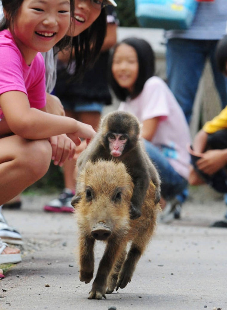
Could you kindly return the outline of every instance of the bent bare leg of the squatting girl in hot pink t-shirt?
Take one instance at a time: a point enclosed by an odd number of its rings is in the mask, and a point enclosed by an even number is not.
[[[51,155],[47,139],[26,140],[17,135],[0,139],[0,205],[45,175]]]

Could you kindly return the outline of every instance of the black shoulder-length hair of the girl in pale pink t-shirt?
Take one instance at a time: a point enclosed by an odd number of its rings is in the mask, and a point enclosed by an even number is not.
[[[114,53],[116,51],[116,48],[122,43],[133,47],[138,57],[139,73],[134,85],[134,89],[131,93],[129,93],[129,91],[126,88],[121,87],[116,82],[112,73]],[[147,41],[139,38],[127,38],[122,40],[121,42],[117,43],[113,48],[113,52],[111,53],[109,58],[108,72],[109,72],[110,86],[112,87],[115,95],[119,100],[125,101],[128,96],[130,96],[131,99],[136,98],[139,95],[139,93],[143,90],[143,86],[147,81],[147,79],[152,77],[155,72],[155,55],[152,50],[152,47]]]

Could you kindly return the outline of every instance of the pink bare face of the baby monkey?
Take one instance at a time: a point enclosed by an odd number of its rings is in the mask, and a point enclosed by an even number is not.
[[[107,139],[109,142],[110,155],[112,155],[113,157],[120,157],[127,143],[127,136],[124,134],[109,132],[107,135]]]

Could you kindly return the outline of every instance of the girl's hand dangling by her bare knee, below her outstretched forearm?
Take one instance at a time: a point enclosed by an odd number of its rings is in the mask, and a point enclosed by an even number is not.
[[[52,147],[54,165],[61,167],[67,158],[73,159],[76,145],[66,134],[50,137],[49,142]]]

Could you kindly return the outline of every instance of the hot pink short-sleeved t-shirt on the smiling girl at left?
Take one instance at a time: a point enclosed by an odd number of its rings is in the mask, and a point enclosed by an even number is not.
[[[0,64],[0,95],[6,91],[22,91],[28,96],[32,108],[45,107],[45,65],[40,53],[28,66],[12,34],[3,30],[0,31]],[[0,120],[2,117],[0,107]]]

